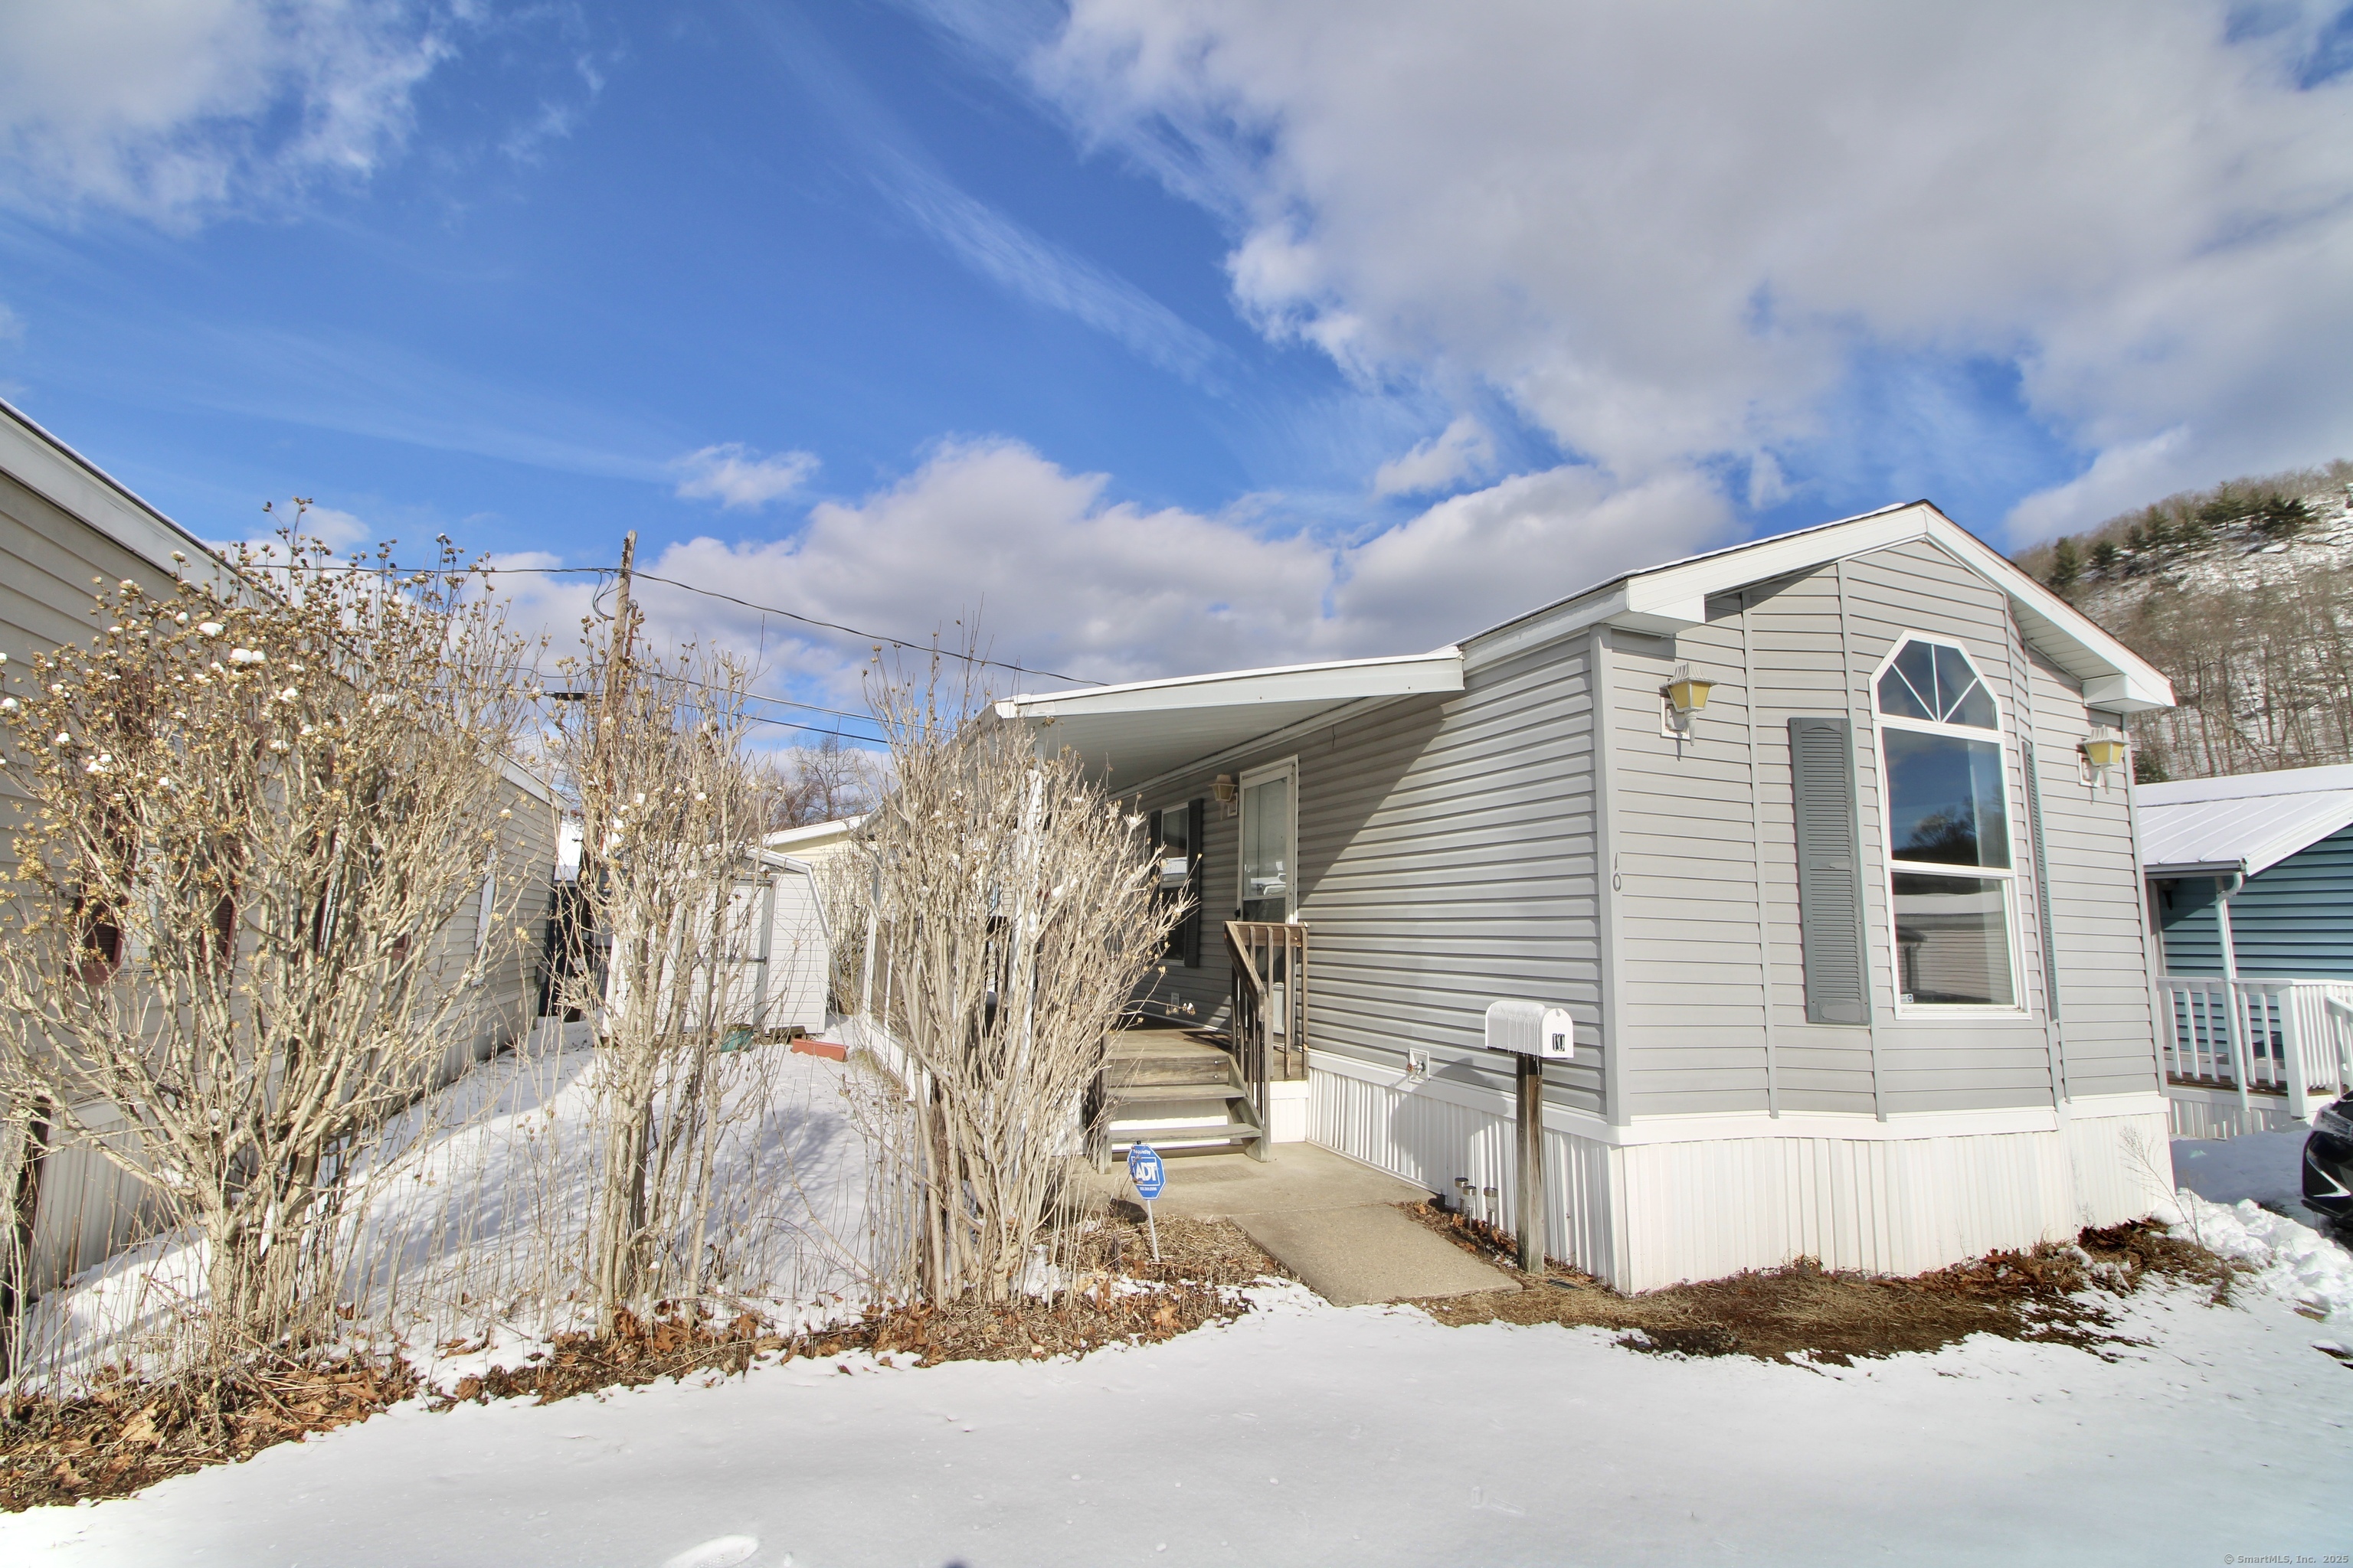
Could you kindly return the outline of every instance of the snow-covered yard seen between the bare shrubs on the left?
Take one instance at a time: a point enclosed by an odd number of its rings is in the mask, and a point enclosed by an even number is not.
[[[574,1255],[598,1173],[595,1051],[501,1056],[398,1117],[355,1175],[365,1211],[344,1298],[358,1340],[388,1331],[438,1385],[520,1363],[586,1326]],[[767,1046],[720,1058],[732,1114],[715,1152],[706,1284],[800,1328],[854,1312],[868,1274],[866,1143],[838,1063]],[[207,1246],[165,1232],[45,1295],[33,1382],[158,1363],[202,1309]],[[442,1345],[480,1345],[459,1356]]]

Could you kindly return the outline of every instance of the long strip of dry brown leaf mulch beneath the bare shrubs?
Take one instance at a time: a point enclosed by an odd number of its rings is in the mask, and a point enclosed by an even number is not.
[[[1132,1208],[1132,1206],[1127,1206]],[[1249,1302],[1231,1288],[1280,1274],[1273,1258],[1224,1220],[1162,1220],[1153,1262],[1144,1211],[1120,1206],[1080,1246],[1078,1288],[1052,1300],[955,1300],[871,1309],[854,1324],[776,1335],[751,1312],[720,1324],[656,1302],[652,1319],[621,1314],[609,1335],[558,1335],[525,1366],[461,1378],[435,1410],[492,1399],[553,1403],[638,1387],[656,1378],[744,1373],[753,1361],[906,1354],[941,1361],[1031,1361],[1106,1345],[1148,1345],[1224,1324]],[[1120,1291],[1115,1281],[1146,1284]],[[445,1345],[466,1354],[480,1345]],[[847,1368],[845,1368],[847,1371]],[[202,1465],[249,1460],[261,1448],[365,1420],[421,1392],[400,1356],[249,1363],[224,1378],[139,1382],[111,1378],[78,1399],[21,1399],[0,1408],[0,1512],[125,1497]]]

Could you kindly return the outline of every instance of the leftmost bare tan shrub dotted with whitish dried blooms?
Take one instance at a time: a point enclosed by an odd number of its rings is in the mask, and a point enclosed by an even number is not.
[[[529,806],[480,576],[287,548],[285,595],[242,604],[101,585],[99,632],[0,712],[0,1091],[202,1234],[214,1356],[327,1321],[344,1171],[485,1004],[508,947],[452,922],[496,931],[499,820]]]

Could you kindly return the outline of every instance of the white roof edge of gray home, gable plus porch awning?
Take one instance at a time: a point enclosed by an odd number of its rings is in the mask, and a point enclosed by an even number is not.
[[[1176,771],[1214,766],[1273,745],[1292,731],[1329,724],[1344,712],[1431,691],[1461,691],[1468,670],[1558,642],[1588,625],[1673,635],[1706,623],[1708,599],[1715,595],[1911,541],[1939,545],[1958,564],[2000,588],[2009,597],[2019,632],[2082,682],[2087,705],[2108,712],[2174,705],[2174,686],[2155,665],[1934,505],[1911,501],[1626,571],[1431,654],[1021,693],[995,703],[991,717],[1040,729],[1052,724],[1054,743],[1078,750],[1096,771],[1118,757],[1122,790],[1151,790]]]

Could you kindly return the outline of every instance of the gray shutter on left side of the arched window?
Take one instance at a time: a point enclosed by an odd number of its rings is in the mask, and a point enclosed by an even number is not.
[[[1805,1016],[1807,1023],[1871,1023],[1854,726],[1847,719],[1791,719],[1788,769],[1798,811]]]

